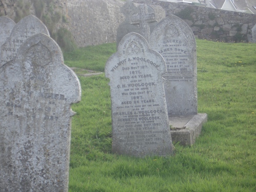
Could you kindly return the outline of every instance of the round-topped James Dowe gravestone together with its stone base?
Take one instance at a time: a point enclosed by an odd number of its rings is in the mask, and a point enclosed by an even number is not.
[[[174,141],[193,144],[201,132],[206,114],[197,113],[197,56],[193,31],[179,17],[169,15],[154,29],[151,49],[166,62],[163,75],[167,111]]]

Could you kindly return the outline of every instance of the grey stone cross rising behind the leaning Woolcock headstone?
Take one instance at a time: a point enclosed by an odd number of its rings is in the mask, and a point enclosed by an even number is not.
[[[139,24],[140,34],[148,41],[150,39],[149,23],[156,22],[155,13],[148,13],[146,4],[139,5],[138,14],[131,16],[131,24]]]

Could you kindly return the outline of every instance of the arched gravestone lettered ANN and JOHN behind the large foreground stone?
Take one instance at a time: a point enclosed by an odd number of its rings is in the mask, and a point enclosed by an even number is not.
[[[27,38],[38,33],[44,33],[50,36],[45,24],[37,17],[28,15],[20,20],[13,27],[10,37],[1,46],[0,67],[15,58],[20,45],[22,45]]]

